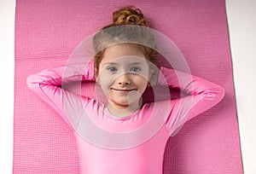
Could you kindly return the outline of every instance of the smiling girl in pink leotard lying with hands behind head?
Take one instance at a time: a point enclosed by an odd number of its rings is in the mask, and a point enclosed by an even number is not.
[[[189,73],[159,71],[154,36],[138,9],[115,11],[92,44],[93,61],[32,74],[28,87],[73,127],[81,173],[162,173],[168,138],[220,102],[224,89]],[[108,104],[61,88],[79,80],[96,81]],[[160,85],[187,95],[142,104],[144,91]]]

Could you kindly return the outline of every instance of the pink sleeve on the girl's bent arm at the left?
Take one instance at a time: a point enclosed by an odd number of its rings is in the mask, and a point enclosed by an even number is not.
[[[43,70],[26,78],[26,84],[33,93],[60,113],[68,125],[76,126],[84,102],[89,99],[61,89],[61,85],[81,80],[95,80],[92,61],[87,66],[79,64]]]

